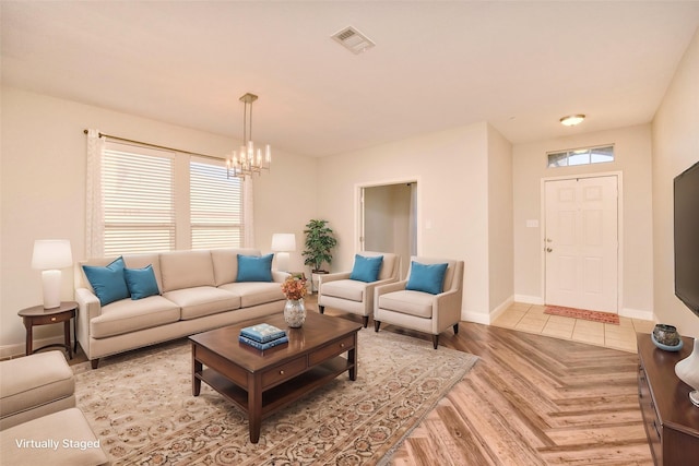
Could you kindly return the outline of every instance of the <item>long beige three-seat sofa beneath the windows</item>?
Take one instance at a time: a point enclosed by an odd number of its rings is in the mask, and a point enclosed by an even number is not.
[[[128,268],[153,266],[159,295],[120,299],[102,307],[83,265],[106,266],[117,258],[75,264],[78,340],[97,368],[99,358],[153,345],[244,320],[283,312],[281,283],[237,282],[238,254],[260,256],[254,249],[212,249],[125,254]]]

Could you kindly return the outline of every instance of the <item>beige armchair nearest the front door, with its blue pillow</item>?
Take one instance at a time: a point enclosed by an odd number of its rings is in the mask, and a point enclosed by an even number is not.
[[[446,270],[438,264],[447,264]],[[443,270],[441,284],[439,268]],[[404,280],[377,287],[374,328],[378,332],[386,322],[429,333],[437,349],[440,333],[450,326],[459,333],[462,295],[463,261],[413,256]]]

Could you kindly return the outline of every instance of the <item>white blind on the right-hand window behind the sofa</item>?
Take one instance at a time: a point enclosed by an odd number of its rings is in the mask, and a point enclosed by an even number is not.
[[[228,179],[226,167],[192,159],[189,164],[192,249],[241,247],[242,182]]]

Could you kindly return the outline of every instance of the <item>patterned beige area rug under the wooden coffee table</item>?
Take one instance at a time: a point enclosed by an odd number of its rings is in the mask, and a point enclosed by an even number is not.
[[[75,366],[78,406],[114,465],[375,465],[477,357],[391,332],[358,335],[357,380],[344,373],[262,420],[257,444],[247,416],[205,383],[192,396],[187,339]]]

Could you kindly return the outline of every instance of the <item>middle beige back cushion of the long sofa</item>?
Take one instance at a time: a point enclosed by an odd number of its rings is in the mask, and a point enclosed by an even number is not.
[[[214,267],[208,250],[170,251],[161,254],[161,291],[214,286]]]

